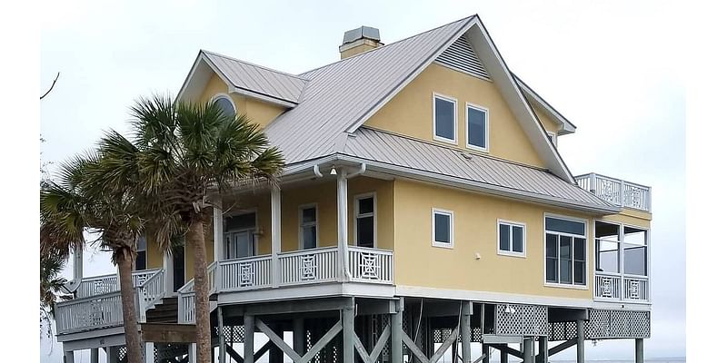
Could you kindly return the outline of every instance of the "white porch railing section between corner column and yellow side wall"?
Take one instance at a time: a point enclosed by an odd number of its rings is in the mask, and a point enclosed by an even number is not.
[[[348,248],[351,280],[393,283],[393,252],[365,247]]]

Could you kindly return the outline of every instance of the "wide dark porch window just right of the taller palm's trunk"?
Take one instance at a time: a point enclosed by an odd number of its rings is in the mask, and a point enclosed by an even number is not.
[[[254,256],[255,230],[257,217],[255,212],[246,212],[224,219],[225,258],[241,259]]]

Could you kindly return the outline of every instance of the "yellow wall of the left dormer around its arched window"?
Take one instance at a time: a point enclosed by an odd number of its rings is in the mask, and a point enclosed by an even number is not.
[[[267,126],[267,124],[271,123],[275,117],[285,111],[282,106],[265,103],[251,97],[244,97],[239,94],[231,94],[228,92],[229,88],[227,87],[227,84],[225,84],[216,74],[213,74],[207,82],[207,85],[204,87],[204,92],[200,96],[198,102],[208,102],[218,93],[227,94],[233,100],[235,111],[238,114],[246,114],[247,117],[249,117],[254,123],[259,124],[261,128]]]

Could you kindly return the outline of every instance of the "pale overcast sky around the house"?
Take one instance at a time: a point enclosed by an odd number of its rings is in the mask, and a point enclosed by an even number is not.
[[[684,355],[684,82],[680,9],[670,1],[48,3],[41,83],[45,161],[126,129],[134,99],[175,94],[199,49],[299,74],[338,60],[344,31],[384,44],[479,14],[511,70],[578,127],[559,140],[574,174],[652,186],[652,338],[647,357]],[[114,268],[87,252],[85,274]],[[60,348],[43,361],[57,361]],[[588,344],[587,358],[632,358],[632,340]],[[573,358],[574,349],[555,358]]]

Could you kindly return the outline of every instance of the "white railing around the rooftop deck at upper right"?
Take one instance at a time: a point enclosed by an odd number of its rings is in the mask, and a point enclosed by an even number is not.
[[[575,177],[578,186],[619,207],[652,211],[652,188],[591,172]]]

